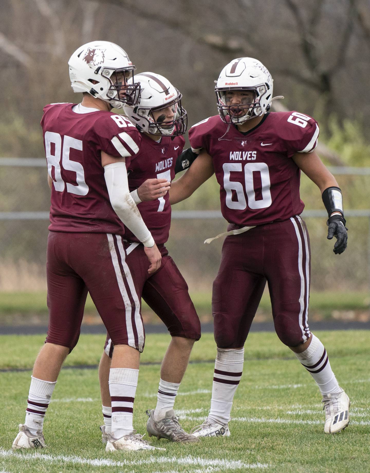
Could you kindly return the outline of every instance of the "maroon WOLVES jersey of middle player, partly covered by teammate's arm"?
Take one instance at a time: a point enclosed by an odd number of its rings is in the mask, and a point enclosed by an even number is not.
[[[128,166],[128,185],[130,191],[137,189],[146,179],[167,179],[175,177],[177,157],[184,148],[185,139],[176,136],[162,136],[160,142],[142,134],[142,142],[138,154]],[[170,195],[167,193],[155,201],[141,202],[137,208],[151,232],[157,245],[166,243],[171,226]],[[126,238],[138,241],[133,233],[126,228]]]

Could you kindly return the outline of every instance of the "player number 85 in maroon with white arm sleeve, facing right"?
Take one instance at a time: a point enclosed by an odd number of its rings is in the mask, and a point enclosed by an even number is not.
[[[144,327],[126,263],[124,224],[143,244],[148,273],[159,269],[162,257],[128,188],[126,167],[141,135],[111,112],[135,105],[140,87],[134,80],[128,83],[135,66],[117,44],[85,44],[68,64],[72,89],[83,99],[78,105],[46,105],[41,120],[51,186],[49,327],[33,369],[25,424],[19,425],[12,448],[45,447],[45,412],[63,361],[78,341],[89,291],[115,344],[108,375],[114,427],[106,448],[153,450],[132,424]]]

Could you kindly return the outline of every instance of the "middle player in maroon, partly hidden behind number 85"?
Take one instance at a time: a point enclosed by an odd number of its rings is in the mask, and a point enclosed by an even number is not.
[[[189,152],[181,153],[185,143],[182,135],[186,131],[187,114],[181,105],[180,92],[169,80],[153,72],[136,74],[135,79],[140,81],[140,104],[125,105],[124,112],[141,132],[141,145],[128,166],[128,185],[162,254],[162,262],[157,272],[148,274],[144,245],[128,229],[125,233],[126,261],[135,282],[137,312],[139,313],[142,297],[166,324],[171,334],[171,342],[161,367],[157,405],[155,409],[147,411],[147,431],[150,437],[153,435],[174,442],[198,442],[197,437],[181,428],[173,406],[190,351],[194,342],[200,338],[200,323],[188,286],[164,246],[171,225],[169,195],[155,190],[157,179],[163,178],[165,182],[171,182],[175,176],[176,163],[183,162],[184,155],[191,155]],[[178,167],[182,170],[183,166]],[[108,332],[99,364],[104,417],[104,425],[100,427],[103,443],[107,441],[107,433],[112,426],[111,415],[114,409],[111,407],[108,389],[110,358],[116,350],[113,345]]]

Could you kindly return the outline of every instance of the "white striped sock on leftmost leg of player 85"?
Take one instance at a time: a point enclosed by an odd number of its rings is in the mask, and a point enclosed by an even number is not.
[[[25,425],[32,434],[43,429],[46,409],[50,403],[56,381],[43,381],[31,376]]]

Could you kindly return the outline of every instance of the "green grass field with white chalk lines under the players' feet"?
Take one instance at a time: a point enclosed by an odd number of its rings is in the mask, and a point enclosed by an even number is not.
[[[24,421],[31,371],[0,373],[0,472],[368,473],[370,471],[370,332],[316,333],[324,342],[340,384],[352,401],[352,420],[341,434],[323,433],[323,412],[315,383],[274,333],[251,333],[244,375],[235,394],[231,437],[197,445],[153,440],[166,451],[106,453],[97,369],[63,369],[45,419],[48,447],[12,453]],[[43,336],[0,336],[0,368],[30,368]],[[104,336],[84,335],[66,365],[95,365]],[[136,391],[134,424],[145,432],[146,409],[156,403],[166,335],[148,335]],[[215,346],[211,334],[195,344],[175,407],[189,430],[208,412]],[[197,362],[198,361],[198,362]]]

